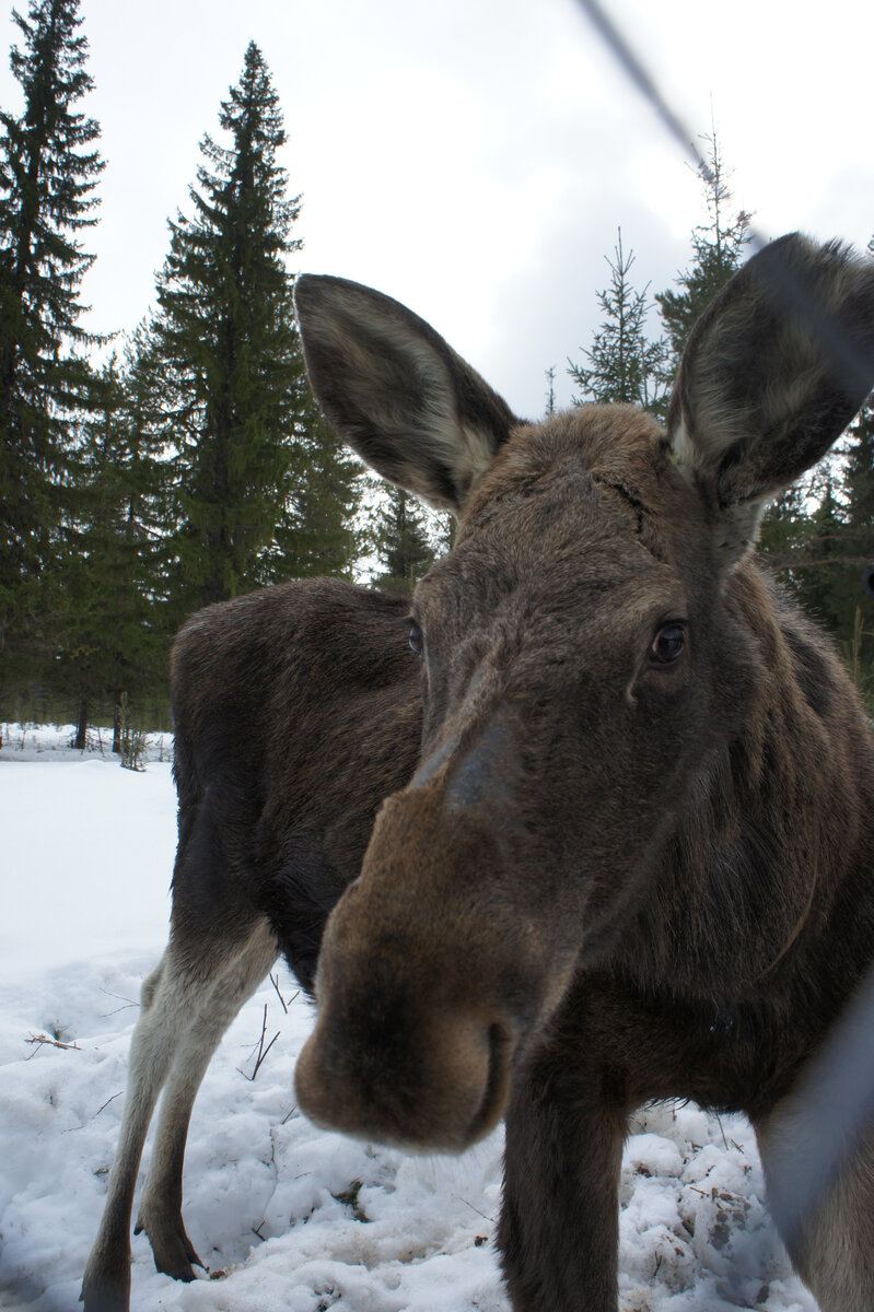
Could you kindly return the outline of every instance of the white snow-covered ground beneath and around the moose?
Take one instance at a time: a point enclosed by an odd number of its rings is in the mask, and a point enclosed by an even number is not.
[[[4,727],[0,749],[0,1308],[34,1312],[79,1305],[175,846],[167,743],[131,774],[70,737],[31,728],[22,747]],[[139,1236],[133,1312],[507,1312],[492,1248],[501,1132],[438,1158],[314,1128],[293,1096],[311,1009],[286,970],[274,980],[231,1027],[192,1119],[184,1210],[210,1275],[159,1275]],[[280,1036],[251,1080],[265,1009]],[[623,1312],[816,1312],[738,1117],[638,1117],[619,1265]]]

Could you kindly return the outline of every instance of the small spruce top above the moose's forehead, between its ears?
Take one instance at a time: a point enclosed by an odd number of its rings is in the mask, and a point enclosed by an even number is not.
[[[625,403],[642,405],[661,415],[667,404],[664,380],[665,348],[650,341],[646,332],[650,302],[647,287],[638,291],[629,278],[634,251],[622,249],[622,230],[617,231],[613,258],[605,256],[610,269],[610,286],[598,293],[605,319],[592,346],[584,349],[585,365],[568,361],[568,374],[581,388],[575,405],[596,401],[605,405]]]

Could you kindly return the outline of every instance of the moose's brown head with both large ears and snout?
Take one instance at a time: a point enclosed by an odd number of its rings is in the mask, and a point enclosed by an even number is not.
[[[768,714],[748,556],[874,379],[874,264],[801,236],[755,256],[698,321],[667,430],[626,405],[517,420],[356,283],[302,277],[297,306],[337,432],[458,518],[411,606],[420,766],[329,917],[298,1098],[333,1128],[459,1151],[581,972],[627,949],[728,745]],[[766,964],[766,929],[723,989]]]

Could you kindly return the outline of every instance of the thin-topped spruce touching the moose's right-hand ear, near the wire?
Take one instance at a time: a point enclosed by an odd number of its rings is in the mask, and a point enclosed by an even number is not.
[[[699,172],[707,207],[707,223],[692,232],[693,264],[678,276],[678,291],[656,293],[656,302],[671,345],[673,374],[682,357],[689,333],[718,291],[740,268],[751,239],[749,215],[731,213],[728,171],[719,154],[717,133],[702,138],[706,146],[705,165]]]

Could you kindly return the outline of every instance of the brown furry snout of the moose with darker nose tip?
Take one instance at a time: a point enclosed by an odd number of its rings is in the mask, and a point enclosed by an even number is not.
[[[319,1014],[295,1076],[311,1119],[441,1152],[499,1122],[538,994],[530,942],[489,901],[499,863],[488,827],[449,815],[438,790],[386,803],[322,945]]]

